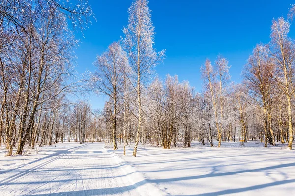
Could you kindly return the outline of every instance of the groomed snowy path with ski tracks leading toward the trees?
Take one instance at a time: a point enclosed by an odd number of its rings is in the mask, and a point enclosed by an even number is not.
[[[0,195],[163,195],[116,154],[104,149],[104,143],[68,143],[57,148],[60,150],[48,147],[47,153],[53,152],[37,159],[30,155],[31,160],[12,169],[5,168],[10,166],[8,157],[0,160]],[[8,164],[3,164],[5,159]]]

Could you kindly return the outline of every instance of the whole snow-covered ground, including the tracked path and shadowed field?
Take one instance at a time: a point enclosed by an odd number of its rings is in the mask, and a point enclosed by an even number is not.
[[[0,196],[295,195],[295,151],[224,142],[164,150],[64,143],[26,156],[0,152]]]

